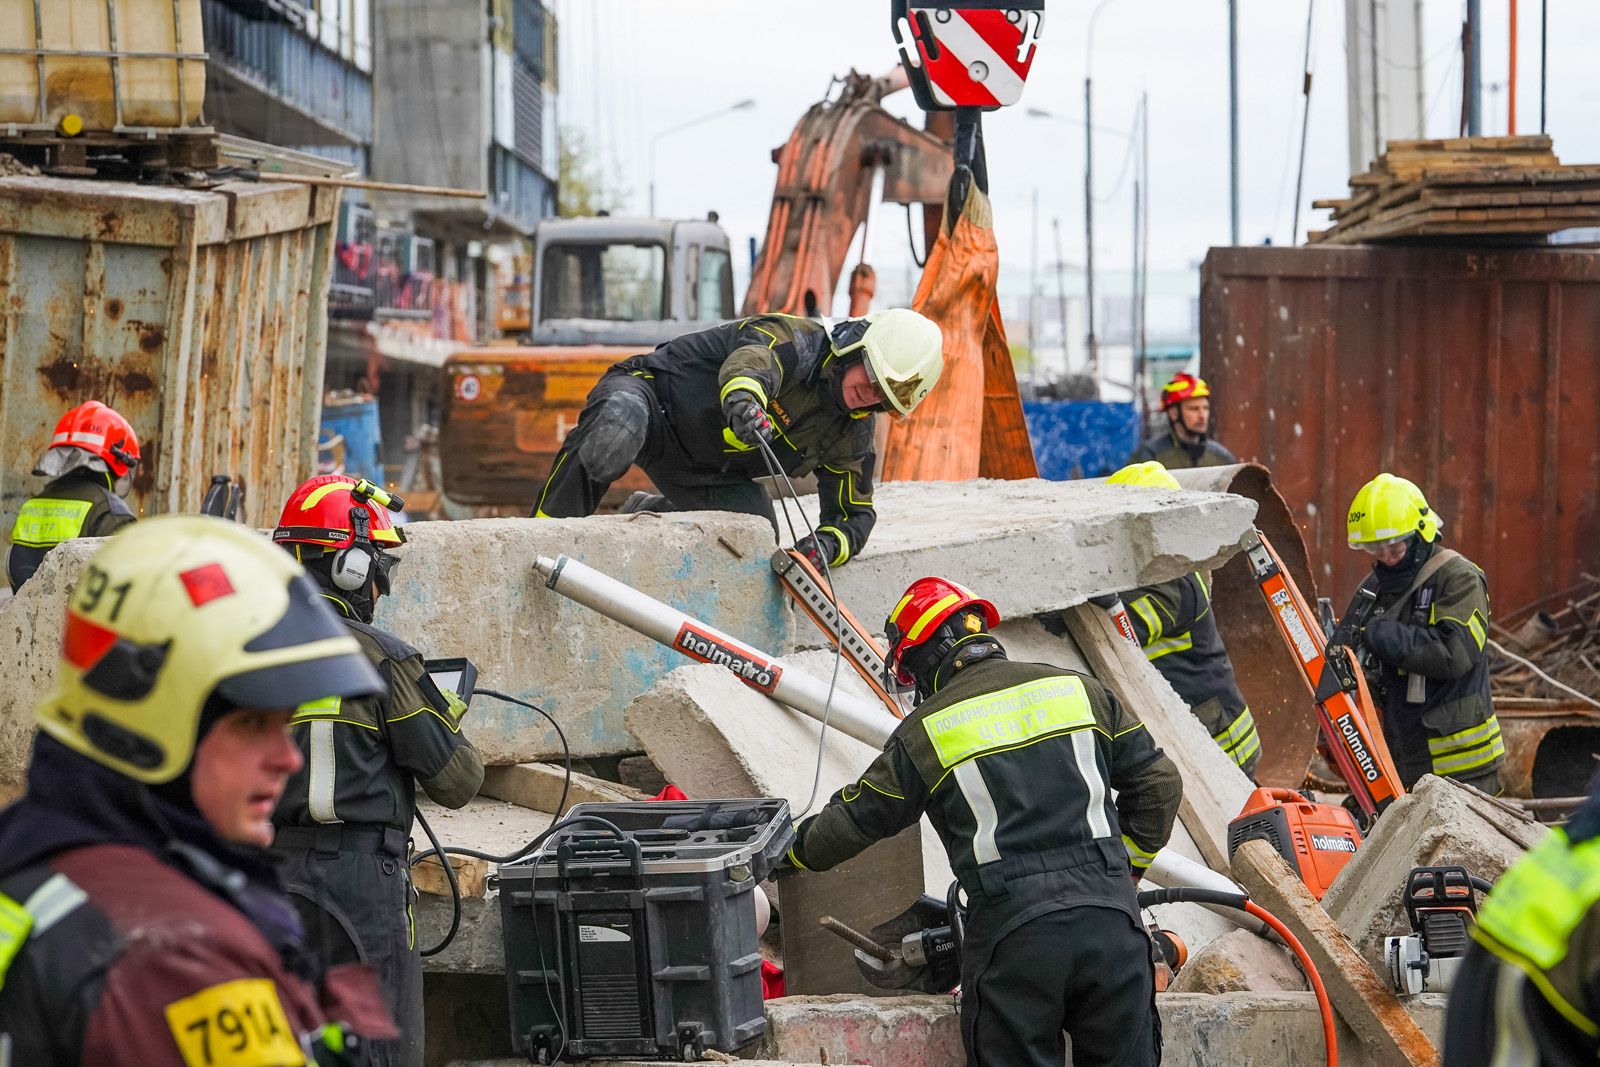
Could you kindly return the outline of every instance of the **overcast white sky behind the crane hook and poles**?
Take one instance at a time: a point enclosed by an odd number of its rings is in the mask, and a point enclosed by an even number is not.
[[[1344,0],[1314,0],[1315,72],[1301,234],[1322,226],[1310,200],[1347,190]],[[1362,0],[1363,3],[1366,0]],[[1050,221],[1061,219],[1064,256],[1083,258],[1083,130],[1032,118],[1043,107],[1083,118],[1085,29],[1091,0],[1050,0],[1040,54],[1022,104],[986,117],[990,195],[1002,262],[1026,270],[1032,195],[1040,203],[1040,259],[1054,259]],[[1504,83],[1509,0],[1482,0],[1483,82]],[[563,125],[586,130],[645,211],[653,134],[755,99],[658,141],[661,214],[722,213],[738,254],[766,229],[782,144],[829,77],[851,67],[882,74],[896,62],[888,0],[554,0],[560,18]],[[1462,0],[1426,0],[1427,134],[1456,136],[1461,110]],[[1563,162],[1600,162],[1600,3],[1549,0],[1549,131]],[[1306,0],[1240,0],[1242,240],[1290,240],[1294,149],[1301,117]],[[1539,123],[1539,3],[1522,5],[1518,133]],[[1408,62],[1406,58],[1386,59]],[[1229,238],[1227,6],[1224,0],[1112,0],[1091,56],[1094,123],[1126,131],[1141,91],[1150,99],[1152,269],[1198,262]],[[886,102],[915,114],[910,93]],[[1506,94],[1485,93],[1485,133],[1506,131]],[[920,117],[915,118],[920,125]],[[1096,139],[1098,272],[1131,262],[1126,141]],[[1118,186],[1118,176],[1123,176]],[[904,210],[882,213],[872,242],[880,272],[902,270]]]

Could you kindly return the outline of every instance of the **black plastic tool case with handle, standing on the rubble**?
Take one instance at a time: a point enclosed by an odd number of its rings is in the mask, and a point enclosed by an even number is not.
[[[794,843],[784,800],[578,805],[499,869],[512,1046],[538,1062],[698,1059],[766,1030],[750,893]]]

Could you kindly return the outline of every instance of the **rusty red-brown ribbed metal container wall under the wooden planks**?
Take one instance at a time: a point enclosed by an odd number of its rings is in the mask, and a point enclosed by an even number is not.
[[[1200,318],[1218,437],[1272,469],[1341,608],[1368,568],[1346,509],[1379,470],[1501,608],[1595,568],[1600,253],[1216,248]]]

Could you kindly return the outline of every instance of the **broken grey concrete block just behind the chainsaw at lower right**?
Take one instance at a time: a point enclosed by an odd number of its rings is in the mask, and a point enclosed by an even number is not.
[[[1400,897],[1413,867],[1461,864],[1494,881],[1546,833],[1493,797],[1427,774],[1378,817],[1322,907],[1382,973],[1384,937],[1411,933]]]

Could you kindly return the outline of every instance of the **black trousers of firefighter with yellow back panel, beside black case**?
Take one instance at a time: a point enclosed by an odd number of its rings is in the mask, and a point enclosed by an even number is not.
[[[1061,1067],[1062,1033],[1074,1067],[1162,1062],[1150,939],[1126,912],[1046,912],[963,957],[966,1067]]]

